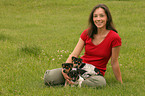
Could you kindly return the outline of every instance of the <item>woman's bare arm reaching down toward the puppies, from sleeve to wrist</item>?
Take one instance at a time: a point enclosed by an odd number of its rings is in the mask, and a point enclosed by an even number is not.
[[[72,56],[78,57],[83,50],[85,42],[80,38],[73,52],[69,55],[66,63],[72,63]]]

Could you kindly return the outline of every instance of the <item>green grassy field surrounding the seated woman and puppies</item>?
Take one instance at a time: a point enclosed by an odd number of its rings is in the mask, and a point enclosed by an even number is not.
[[[44,72],[66,61],[99,3],[109,7],[122,38],[124,84],[109,62],[105,88],[45,86]],[[144,0],[0,0],[0,95],[145,96],[144,10]]]

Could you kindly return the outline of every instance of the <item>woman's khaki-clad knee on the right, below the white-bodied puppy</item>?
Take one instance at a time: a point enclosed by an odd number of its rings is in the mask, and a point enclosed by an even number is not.
[[[82,82],[82,87],[83,86],[104,87],[106,86],[106,80],[103,76],[91,76]]]

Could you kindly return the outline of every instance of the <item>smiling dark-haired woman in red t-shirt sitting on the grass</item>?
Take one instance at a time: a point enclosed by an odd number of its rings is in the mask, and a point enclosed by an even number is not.
[[[72,56],[79,57],[85,47],[85,53],[81,57],[84,63],[94,65],[104,76],[106,65],[111,57],[114,75],[122,83],[118,62],[120,46],[121,38],[113,26],[111,13],[106,5],[99,4],[93,8],[89,17],[89,27],[81,34],[75,49],[68,57],[66,63],[72,63]],[[62,71],[62,74],[65,80],[73,84],[66,73]],[[105,86],[106,81],[103,76],[92,76],[84,80],[82,86]]]

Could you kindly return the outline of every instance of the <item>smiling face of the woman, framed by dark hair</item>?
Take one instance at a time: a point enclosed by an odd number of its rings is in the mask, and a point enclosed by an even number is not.
[[[97,8],[93,13],[93,21],[98,29],[105,28],[107,22],[107,15],[102,8]]]

